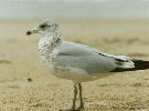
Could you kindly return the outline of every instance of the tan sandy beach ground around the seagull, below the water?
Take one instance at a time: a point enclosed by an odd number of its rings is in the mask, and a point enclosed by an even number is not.
[[[40,20],[0,20],[0,111],[70,108],[73,83],[52,75],[38,54]],[[149,60],[149,20],[60,20],[64,40],[103,52]],[[83,83],[85,111],[149,111],[149,71]],[[77,101],[78,104],[78,101]]]

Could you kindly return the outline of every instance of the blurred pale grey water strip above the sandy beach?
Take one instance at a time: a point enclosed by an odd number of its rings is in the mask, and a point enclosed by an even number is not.
[[[149,18],[148,0],[0,0],[0,18]]]

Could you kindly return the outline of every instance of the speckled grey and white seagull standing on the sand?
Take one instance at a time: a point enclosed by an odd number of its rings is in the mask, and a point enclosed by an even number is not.
[[[92,47],[64,41],[56,21],[47,19],[26,36],[40,33],[39,53],[50,71],[62,79],[74,82],[74,99],[71,109],[60,111],[83,111],[82,82],[93,81],[116,72],[149,69],[149,61],[130,59],[125,56],[103,53]],[[79,107],[76,95],[79,91]]]

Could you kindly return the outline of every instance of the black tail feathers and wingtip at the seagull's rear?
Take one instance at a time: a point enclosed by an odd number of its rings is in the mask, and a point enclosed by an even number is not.
[[[116,68],[110,72],[125,72],[125,71],[138,71],[149,69],[149,61],[143,60],[131,60],[134,62],[134,68]]]

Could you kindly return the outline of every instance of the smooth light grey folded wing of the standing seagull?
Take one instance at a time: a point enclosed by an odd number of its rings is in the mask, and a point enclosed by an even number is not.
[[[54,61],[62,68],[70,67],[83,69],[87,73],[102,73],[109,72],[118,65],[124,65],[120,64],[120,62],[124,62],[123,59],[102,53],[87,46],[63,41]]]

